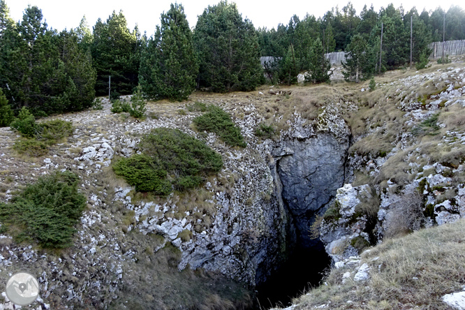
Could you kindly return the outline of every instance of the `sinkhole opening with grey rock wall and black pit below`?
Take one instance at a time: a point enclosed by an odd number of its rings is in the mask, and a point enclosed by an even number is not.
[[[330,134],[287,140],[275,149],[275,181],[281,189],[290,226],[288,256],[256,286],[254,309],[287,307],[293,297],[320,285],[331,258],[319,239],[311,236],[316,216],[322,216],[344,186],[349,140]]]

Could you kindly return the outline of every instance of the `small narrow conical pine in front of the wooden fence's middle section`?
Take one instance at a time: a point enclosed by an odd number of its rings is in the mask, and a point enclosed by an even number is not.
[[[325,50],[323,50],[320,38],[317,38],[311,47],[309,67],[310,69],[305,76],[307,82],[313,82],[313,84],[330,82],[331,64],[325,57]]]

